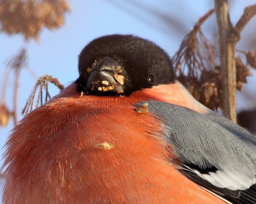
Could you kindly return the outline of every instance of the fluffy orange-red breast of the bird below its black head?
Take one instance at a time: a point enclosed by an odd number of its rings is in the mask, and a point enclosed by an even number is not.
[[[77,95],[28,114],[7,143],[5,203],[224,203],[166,160],[160,122],[135,102]]]

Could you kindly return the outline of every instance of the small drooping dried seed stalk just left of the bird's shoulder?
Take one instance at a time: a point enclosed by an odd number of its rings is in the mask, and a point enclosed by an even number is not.
[[[43,103],[50,100],[51,96],[48,92],[48,82],[57,86],[60,90],[64,89],[64,86],[60,84],[57,78],[53,78],[51,75],[43,75],[38,78],[36,81],[36,85],[28,98],[26,106],[24,107],[22,114],[26,115],[28,112],[31,112],[34,108],[41,106]],[[36,92],[38,90],[38,98],[36,100],[36,104],[34,105],[34,99],[36,96]],[[45,91],[45,94],[43,92]]]

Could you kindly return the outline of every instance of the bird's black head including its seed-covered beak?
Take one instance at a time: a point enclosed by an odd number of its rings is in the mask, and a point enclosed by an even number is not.
[[[174,82],[168,54],[134,35],[107,35],[91,41],[79,56],[79,92],[129,95],[142,88]]]

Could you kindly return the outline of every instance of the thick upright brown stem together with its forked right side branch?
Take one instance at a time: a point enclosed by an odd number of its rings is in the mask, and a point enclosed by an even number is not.
[[[235,60],[235,49],[240,40],[241,31],[256,14],[256,4],[244,9],[244,14],[235,27],[230,22],[228,1],[215,0],[215,7],[220,43],[223,115],[236,122],[236,68],[238,65]]]

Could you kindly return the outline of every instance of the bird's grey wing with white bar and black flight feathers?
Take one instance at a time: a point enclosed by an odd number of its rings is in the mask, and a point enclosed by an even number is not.
[[[163,137],[174,147],[186,177],[234,204],[256,203],[253,135],[211,110],[201,114],[159,101],[143,103],[161,118]]]

